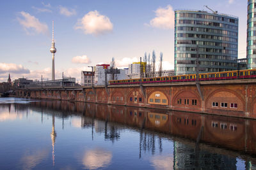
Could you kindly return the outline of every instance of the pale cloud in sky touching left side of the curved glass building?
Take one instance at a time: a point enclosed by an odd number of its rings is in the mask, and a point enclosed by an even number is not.
[[[156,11],[156,17],[150,20],[152,27],[160,29],[173,29],[175,13],[172,6],[168,5],[166,8],[158,8]]]

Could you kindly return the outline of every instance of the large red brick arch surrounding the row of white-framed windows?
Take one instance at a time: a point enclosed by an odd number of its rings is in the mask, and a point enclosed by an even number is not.
[[[205,99],[205,108],[210,108],[209,104],[211,105],[211,103],[209,103],[209,100],[214,97],[215,94],[218,94],[218,93],[221,93],[221,92],[226,92],[227,94],[225,96],[221,96],[221,97],[225,97],[227,99],[227,96],[228,96],[228,93],[233,95],[233,96],[236,96],[237,99],[239,99],[239,102],[237,101],[234,101],[236,102],[237,104],[243,104],[243,107],[241,108],[241,110],[239,109],[238,111],[243,111],[245,110],[245,101],[243,99],[243,97],[241,97],[239,94],[237,94],[236,91],[234,90],[230,90],[230,89],[217,89],[217,90],[214,90],[213,92],[211,92],[207,98]],[[227,103],[229,103],[227,101]],[[229,108],[229,106],[228,106]]]

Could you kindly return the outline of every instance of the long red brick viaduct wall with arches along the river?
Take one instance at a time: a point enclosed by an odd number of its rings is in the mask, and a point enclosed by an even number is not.
[[[164,108],[256,118],[256,80],[20,89],[20,97]],[[218,103],[218,106],[212,106]]]

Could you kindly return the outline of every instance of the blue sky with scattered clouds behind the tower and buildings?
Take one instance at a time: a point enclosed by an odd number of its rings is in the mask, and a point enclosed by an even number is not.
[[[241,0],[54,0],[2,1],[0,6],[0,81],[29,78],[51,80],[52,20],[54,20],[55,76],[76,77],[88,66],[109,64],[123,68],[145,52],[164,69],[174,67],[174,11],[207,10],[239,17],[238,57],[246,57],[247,1]],[[209,11],[209,10],[207,10]]]

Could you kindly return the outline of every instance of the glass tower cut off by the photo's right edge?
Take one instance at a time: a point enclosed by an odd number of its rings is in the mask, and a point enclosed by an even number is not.
[[[256,68],[256,0],[248,0],[247,9],[247,67]]]

